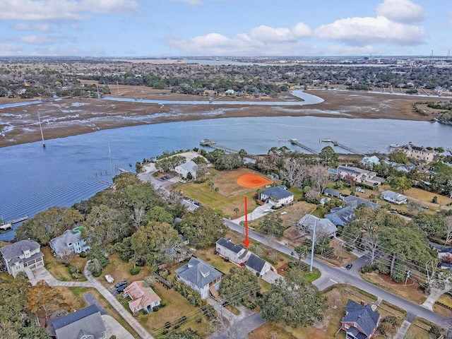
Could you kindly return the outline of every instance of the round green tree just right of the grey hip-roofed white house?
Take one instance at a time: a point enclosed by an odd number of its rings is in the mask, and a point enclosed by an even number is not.
[[[242,304],[260,290],[255,274],[245,267],[233,267],[221,280],[220,295],[223,301],[233,305]]]

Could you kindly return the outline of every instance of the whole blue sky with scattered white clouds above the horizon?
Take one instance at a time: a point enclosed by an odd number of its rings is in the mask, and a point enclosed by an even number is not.
[[[446,56],[450,0],[0,0],[0,56]]]

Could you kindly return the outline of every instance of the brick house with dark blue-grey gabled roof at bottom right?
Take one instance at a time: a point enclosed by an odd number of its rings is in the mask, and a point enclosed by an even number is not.
[[[372,338],[379,327],[381,316],[374,311],[370,304],[364,306],[364,302],[358,304],[348,300],[345,305],[345,315],[340,321],[340,328],[347,333],[347,339]]]

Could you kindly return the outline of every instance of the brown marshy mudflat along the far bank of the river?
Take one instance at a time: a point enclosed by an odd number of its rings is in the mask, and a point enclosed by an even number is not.
[[[133,102],[70,98],[44,101],[40,104],[0,109],[0,147],[40,141],[42,121],[44,138],[61,138],[102,129],[125,126],[160,124],[172,121],[215,119],[227,117],[341,117],[362,119],[430,120],[413,109],[415,102],[439,101],[439,97],[395,95],[389,93],[361,93],[347,90],[307,90],[307,93],[323,98],[315,105],[221,105],[221,101],[302,101],[290,93],[280,93],[270,98],[208,97],[170,93],[169,90],[153,90],[137,86],[111,86],[112,97],[132,97]],[[198,105],[160,105],[141,102],[150,100],[197,100]],[[443,99],[444,100],[444,99]],[[0,104],[19,102],[18,99],[0,98]],[[25,100],[22,100],[25,101]]]

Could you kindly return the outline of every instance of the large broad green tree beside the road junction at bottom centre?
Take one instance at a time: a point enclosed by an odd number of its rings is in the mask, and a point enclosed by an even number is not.
[[[323,319],[326,298],[309,283],[301,271],[290,270],[258,300],[263,319],[283,321],[289,326],[310,326]]]

